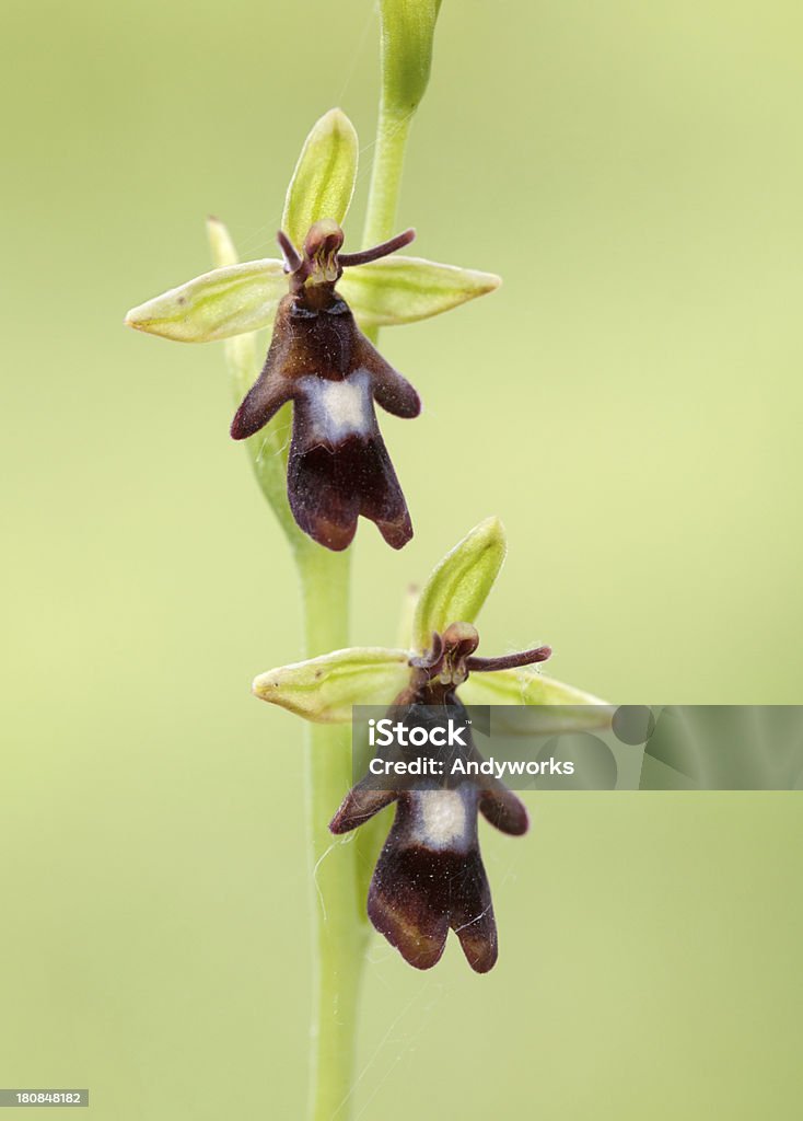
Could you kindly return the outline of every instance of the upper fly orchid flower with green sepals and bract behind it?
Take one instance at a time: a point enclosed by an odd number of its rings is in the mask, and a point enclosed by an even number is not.
[[[412,230],[343,253],[340,228],[357,151],[351,121],[330,110],[309,133],[288,188],[278,238],[282,259],[239,263],[225,228],[211,220],[213,252],[222,267],[133,308],[125,319],[138,331],[179,342],[227,340],[242,400],[232,436],[248,441],[258,478],[289,534],[295,520],[334,550],[351,544],[361,515],[394,548],[412,536],[374,402],[400,417],[418,416],[421,402],[357,323],[366,331],[413,323],[499,284],[488,272],[396,254],[412,241]],[[253,333],[271,324],[268,358],[256,377]],[[277,414],[289,401],[288,462]]]

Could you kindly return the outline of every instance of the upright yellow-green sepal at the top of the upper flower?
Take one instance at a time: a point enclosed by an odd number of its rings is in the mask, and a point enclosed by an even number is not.
[[[342,109],[330,109],[316,121],[304,142],[284,200],[281,228],[300,248],[314,222],[348,212],[357,179],[360,142]]]

